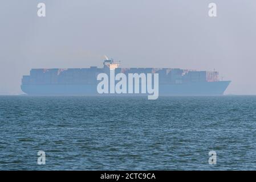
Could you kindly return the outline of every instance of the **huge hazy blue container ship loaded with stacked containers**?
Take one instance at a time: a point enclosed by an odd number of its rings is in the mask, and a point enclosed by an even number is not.
[[[106,59],[103,68],[31,69],[22,77],[21,89],[35,96],[97,96],[97,75],[158,73],[159,96],[220,96],[231,81],[220,81],[216,71],[179,68],[119,68],[120,62]]]

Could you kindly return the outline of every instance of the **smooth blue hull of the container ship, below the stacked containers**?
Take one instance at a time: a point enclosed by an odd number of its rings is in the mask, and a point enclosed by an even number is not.
[[[220,96],[230,81],[160,84],[160,96]],[[96,84],[23,84],[21,89],[34,96],[97,96]],[[101,94],[102,95],[102,94]],[[109,95],[109,94],[104,94]],[[122,95],[122,94],[121,94]],[[125,94],[124,94],[125,95]],[[140,94],[133,94],[140,95]],[[143,95],[143,94],[141,94]],[[145,94],[144,94],[145,95]]]

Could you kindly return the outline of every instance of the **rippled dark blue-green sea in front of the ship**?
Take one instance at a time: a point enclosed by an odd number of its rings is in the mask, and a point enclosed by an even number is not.
[[[0,124],[0,170],[256,169],[256,96],[0,96]]]

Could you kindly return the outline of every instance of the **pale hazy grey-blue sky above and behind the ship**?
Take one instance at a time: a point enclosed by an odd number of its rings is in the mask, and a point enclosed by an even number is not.
[[[31,68],[101,67],[103,55],[121,67],[215,68],[232,81],[227,94],[256,94],[255,0],[5,0],[0,23],[0,94],[21,94]]]

